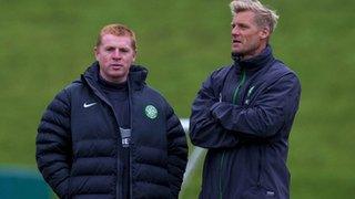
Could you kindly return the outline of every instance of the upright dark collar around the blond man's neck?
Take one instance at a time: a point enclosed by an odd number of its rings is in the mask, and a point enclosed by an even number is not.
[[[246,72],[255,72],[265,66],[268,62],[274,60],[272,48],[266,45],[266,48],[256,56],[247,60],[241,60],[239,55],[232,53],[232,59],[234,60],[234,65],[237,72],[245,70]]]

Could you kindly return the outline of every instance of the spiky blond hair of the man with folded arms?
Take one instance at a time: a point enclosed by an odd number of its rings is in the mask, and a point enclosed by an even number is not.
[[[242,11],[253,11],[255,13],[255,23],[258,27],[266,27],[270,32],[276,29],[278,19],[276,11],[271,10],[258,0],[234,0],[230,3],[230,8],[233,15]]]

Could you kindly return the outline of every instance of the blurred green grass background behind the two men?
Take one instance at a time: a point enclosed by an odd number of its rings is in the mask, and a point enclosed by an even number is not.
[[[231,63],[230,0],[0,0],[0,164],[36,169],[48,103],[93,61],[108,23],[138,35],[148,82],[189,117],[201,83]],[[281,15],[275,55],[300,76],[291,134],[292,198],[355,196],[355,1],[265,0]],[[354,93],[353,93],[354,92]],[[181,198],[197,198],[201,164]]]

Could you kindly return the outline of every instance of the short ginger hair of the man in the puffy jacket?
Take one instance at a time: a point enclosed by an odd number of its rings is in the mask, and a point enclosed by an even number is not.
[[[100,34],[97,40],[97,46],[101,44],[101,39],[104,34],[113,34],[116,36],[130,36],[132,40],[132,48],[134,51],[136,51],[136,40],[135,40],[135,33],[129,29],[128,27],[119,23],[114,24],[108,24],[103,27],[100,31]]]

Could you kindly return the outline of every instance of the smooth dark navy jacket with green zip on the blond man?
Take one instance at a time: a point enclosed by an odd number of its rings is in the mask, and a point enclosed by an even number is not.
[[[270,46],[213,72],[190,121],[192,143],[209,149],[200,198],[288,198],[288,135],[300,93],[297,76]]]

